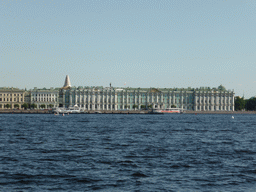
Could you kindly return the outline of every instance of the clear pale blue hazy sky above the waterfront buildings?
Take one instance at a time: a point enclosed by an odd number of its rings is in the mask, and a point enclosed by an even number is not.
[[[255,0],[1,0],[0,87],[256,95]],[[124,85],[126,83],[126,85]]]

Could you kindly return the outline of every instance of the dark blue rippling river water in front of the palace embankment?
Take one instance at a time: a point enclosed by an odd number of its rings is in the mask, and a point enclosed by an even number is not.
[[[255,115],[0,115],[0,191],[255,191]]]

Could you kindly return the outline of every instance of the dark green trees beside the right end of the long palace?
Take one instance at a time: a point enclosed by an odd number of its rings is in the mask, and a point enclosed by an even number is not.
[[[250,99],[235,97],[235,110],[256,111],[256,97],[251,97]]]

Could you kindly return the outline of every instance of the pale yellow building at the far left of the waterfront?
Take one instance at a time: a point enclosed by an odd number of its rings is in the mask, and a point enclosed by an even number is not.
[[[24,98],[25,90],[23,89],[0,87],[0,109],[7,108],[7,104],[10,105],[9,108],[11,109],[15,108],[15,104],[21,109],[21,105],[24,103]]]

